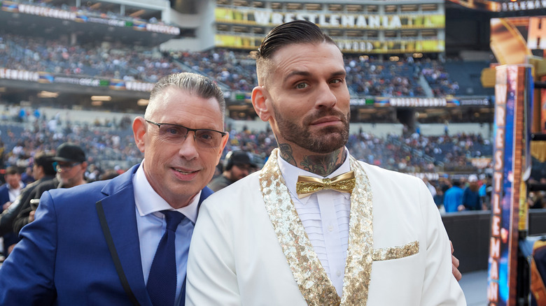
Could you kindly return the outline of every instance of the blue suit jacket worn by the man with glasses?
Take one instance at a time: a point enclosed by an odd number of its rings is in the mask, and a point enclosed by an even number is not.
[[[22,229],[21,242],[0,268],[0,305],[136,305],[132,293],[139,305],[151,306],[132,184],[137,168],[113,180],[46,191],[36,220]],[[205,187],[200,203],[210,194]]]

